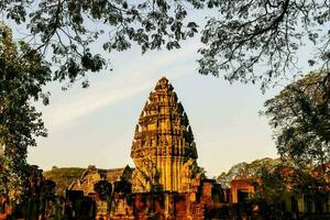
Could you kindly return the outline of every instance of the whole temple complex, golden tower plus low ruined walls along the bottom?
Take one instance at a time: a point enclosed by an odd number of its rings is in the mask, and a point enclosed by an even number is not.
[[[135,167],[101,169],[90,165],[62,186],[64,195],[54,195],[55,183],[41,178],[42,170],[37,169],[40,175],[29,178],[33,194],[29,202],[16,208],[20,211],[16,217],[26,220],[268,219],[258,206],[246,202],[250,195],[261,190],[260,178],[245,176],[231,179],[230,186],[221,186],[220,182],[205,176],[197,157],[188,117],[172,84],[163,77],[151,91],[135,127],[131,145]],[[330,163],[327,167],[330,168]],[[285,179],[294,179],[294,168],[279,170]],[[314,176],[318,173],[315,169]],[[314,212],[317,218],[312,219],[320,219],[320,215],[329,219],[330,189],[326,191],[322,197],[308,191],[288,197],[283,201],[283,213],[302,217]],[[0,220],[13,212],[10,205],[0,196]]]

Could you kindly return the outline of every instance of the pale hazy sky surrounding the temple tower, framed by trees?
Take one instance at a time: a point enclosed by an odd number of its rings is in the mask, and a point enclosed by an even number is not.
[[[194,18],[201,20],[200,14]],[[172,52],[142,56],[140,50],[132,48],[107,54],[113,72],[106,69],[90,76],[88,89],[81,89],[79,82],[68,91],[62,91],[62,85],[48,85],[45,90],[52,92],[51,105],[36,103],[48,138],[38,139],[38,146],[30,148],[29,162],[43,169],[133,165],[130,151],[134,128],[162,76],[169,79],[183,102],[195,135],[198,163],[209,177],[240,162],[276,157],[267,119],[258,111],[279,88],[262,95],[258,86],[230,85],[222,76],[199,75],[199,37],[195,37]]]

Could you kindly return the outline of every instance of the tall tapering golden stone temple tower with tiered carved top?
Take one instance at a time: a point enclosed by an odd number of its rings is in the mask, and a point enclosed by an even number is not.
[[[165,77],[141,112],[131,157],[133,193],[189,190],[197,151],[187,114]]]

